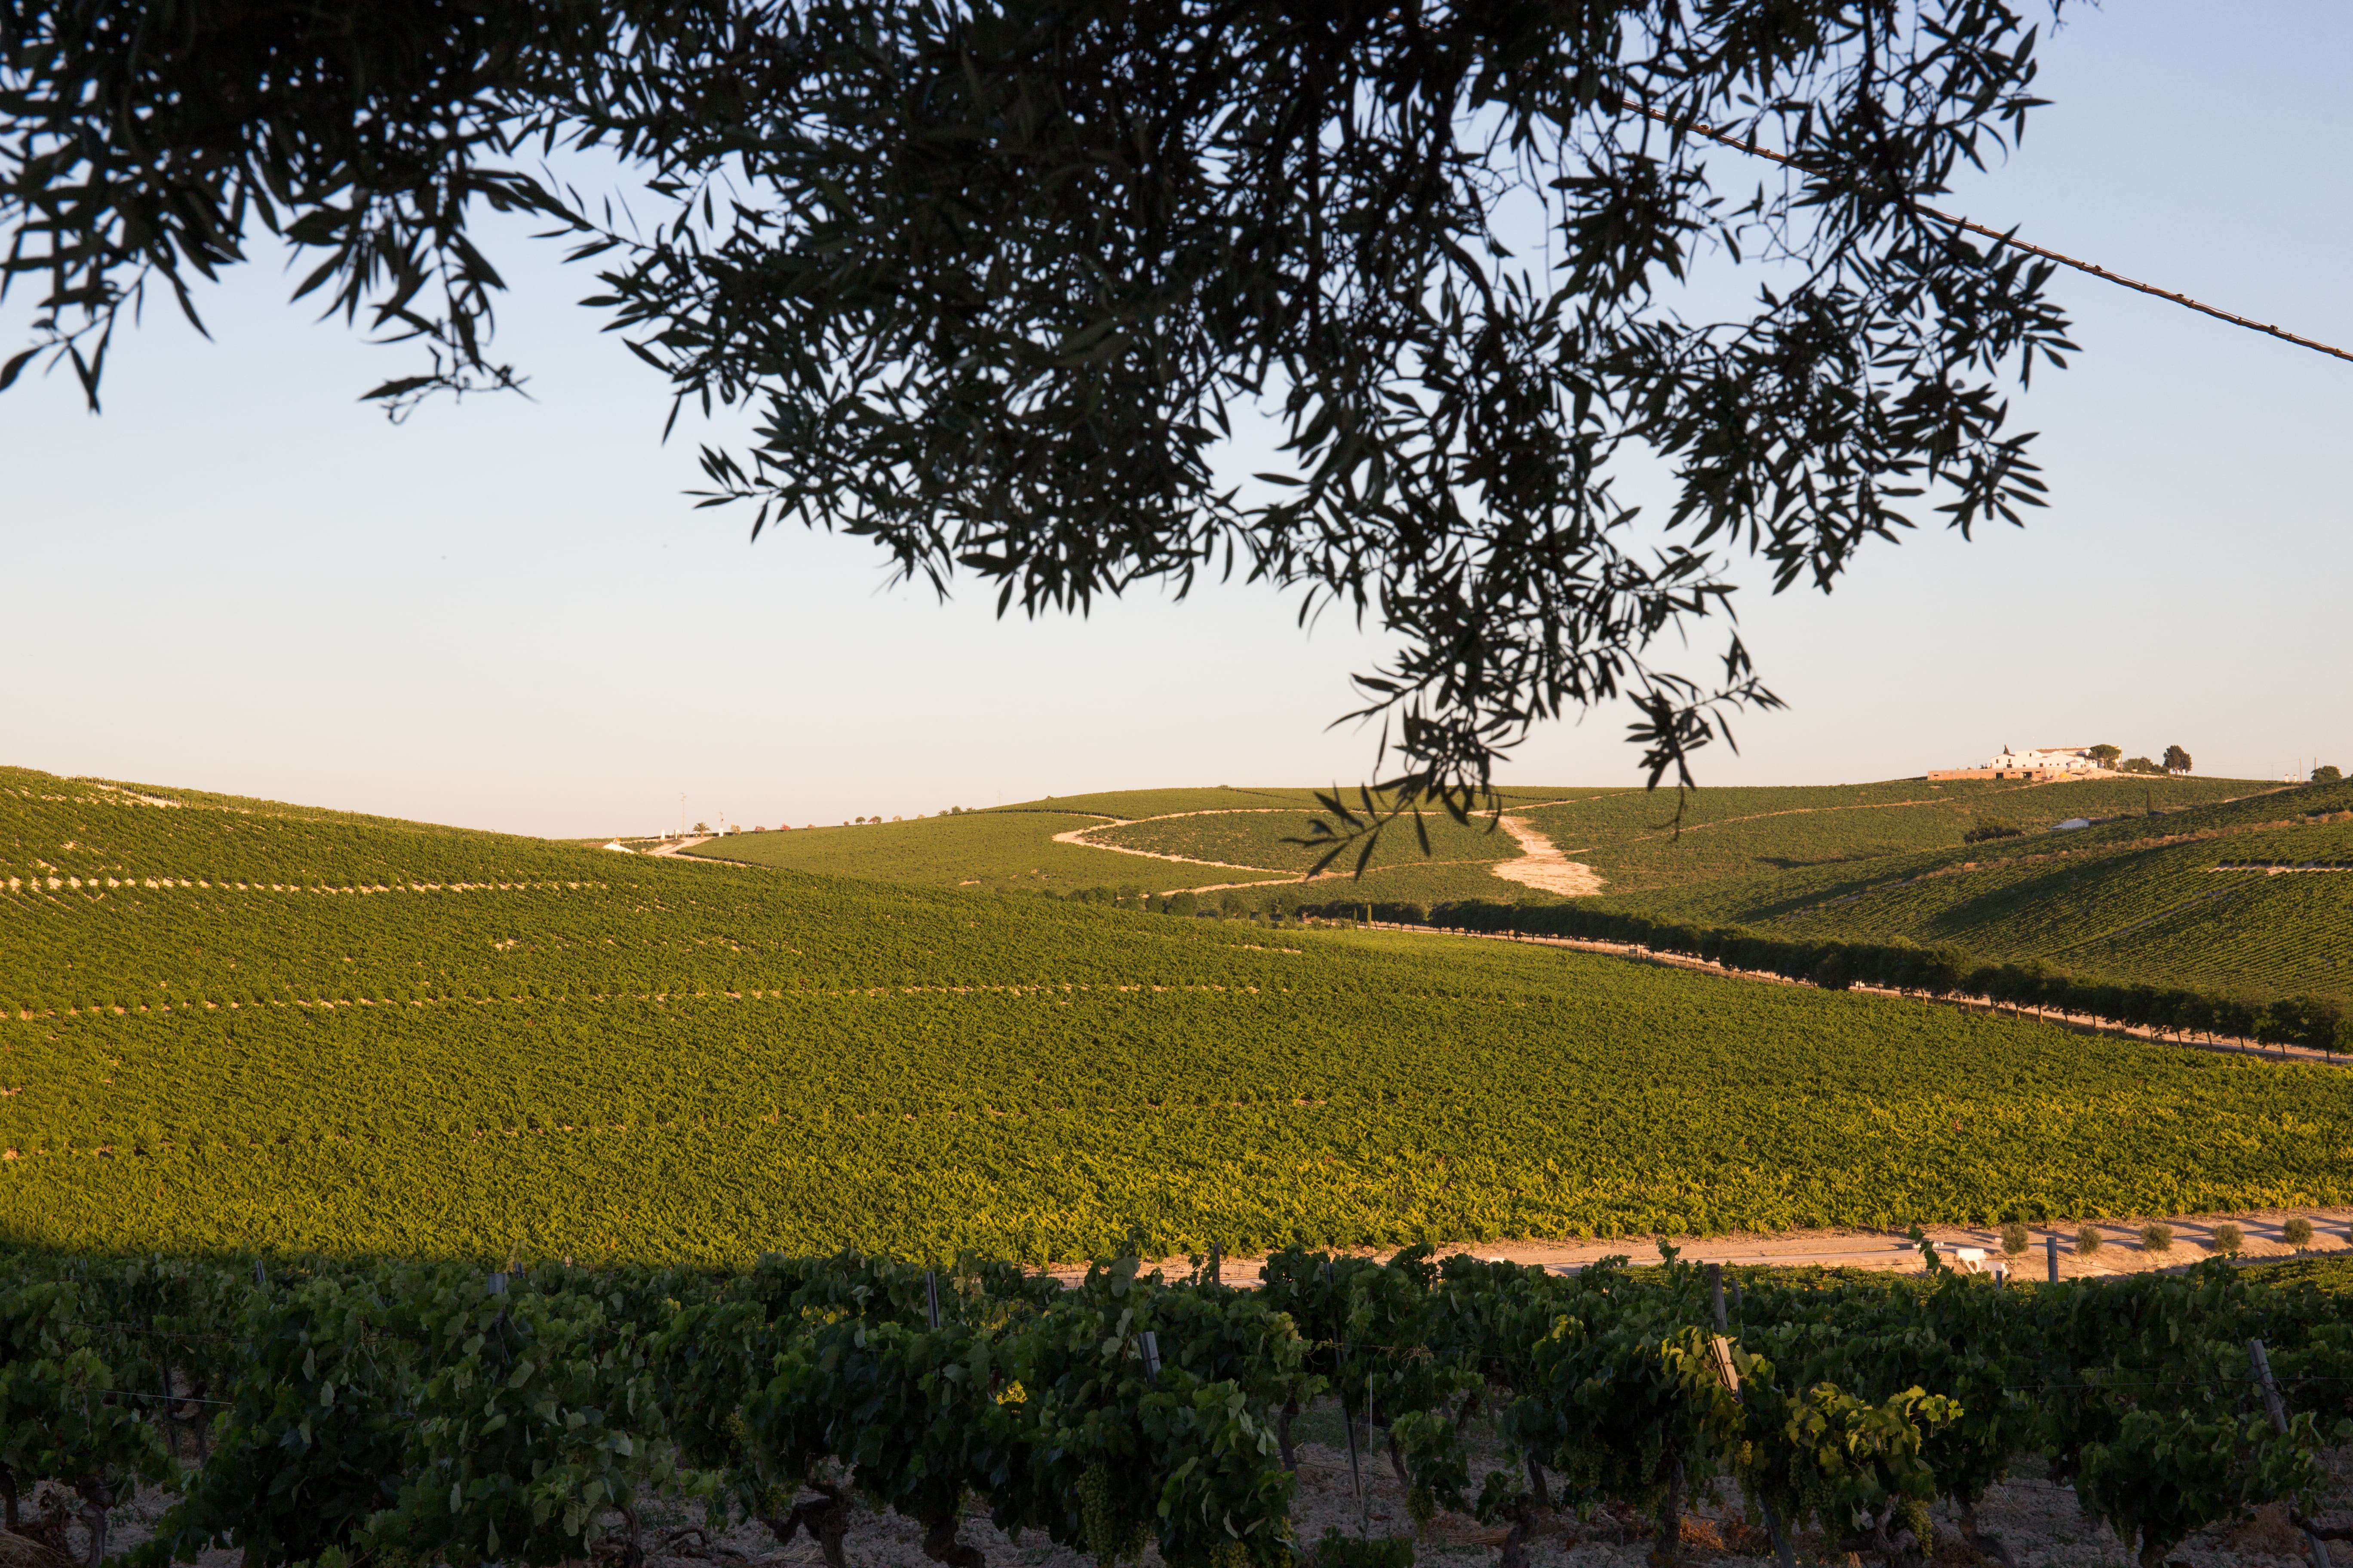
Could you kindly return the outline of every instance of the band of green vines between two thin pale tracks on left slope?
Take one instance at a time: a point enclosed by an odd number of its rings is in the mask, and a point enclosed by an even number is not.
[[[588,851],[579,851],[588,853]],[[612,886],[381,896],[200,889],[0,889],[0,1004],[75,1006],[106,983],[169,1001],[207,985],[320,997],[419,983],[536,983],[551,992],[751,992],[946,983],[1259,980],[1282,966],[1249,938],[1132,940],[1104,912],[932,889],[769,877],[649,860]],[[1297,966],[1289,966],[1292,971]],[[369,990],[393,987],[393,990]]]

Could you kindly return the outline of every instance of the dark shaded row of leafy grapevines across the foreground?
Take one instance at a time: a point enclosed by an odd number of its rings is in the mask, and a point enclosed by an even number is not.
[[[1214,1260],[1064,1288],[859,1255],[485,1274],[16,1253],[0,1415],[45,1434],[9,1450],[16,1486],[78,1493],[96,1554],[108,1497],[181,1472],[158,1563],[638,1563],[656,1500],[765,1521],[779,1547],[809,1530],[840,1563],[854,1490],[953,1568],[986,1568],[967,1497],[1106,1568],[1146,1544],[1169,1568],[1292,1568],[1292,1422],[1337,1394],[1414,1523],[1508,1526],[1511,1568],[1602,1512],[1654,1516],[1671,1563],[1715,1483],[1781,1563],[1941,1559],[1932,1502],[2007,1559],[1977,1505],[2021,1455],[2155,1568],[2254,1505],[2313,1507],[2322,1441],[2353,1436],[2341,1284],[2202,1265],[2005,1291],[1934,1262],[1727,1281],[1671,1251],[1574,1279],[1285,1251],[1257,1291]],[[1501,1467],[1473,1474],[1473,1425]]]

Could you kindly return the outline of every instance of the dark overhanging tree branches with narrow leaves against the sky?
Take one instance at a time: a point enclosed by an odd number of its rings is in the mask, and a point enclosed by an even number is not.
[[[2068,348],[2045,263],[1920,207],[2035,103],[2000,0],[7,0],[0,26],[5,266],[42,292],[12,374],[49,353],[96,402],[144,292],[195,310],[271,230],[304,294],[426,353],[388,407],[506,386],[471,226],[520,207],[680,407],[758,414],[704,456],[753,534],[842,529],[1028,614],[1245,574],[1384,628],[1360,684],[1391,802],[1461,811],[1529,724],[1614,696],[1652,780],[1687,778],[1774,703],[1734,559],[1828,588],[1868,538],[2017,520],[2040,487],[2000,383]],[[546,174],[581,148],[633,214]],[[1755,275],[1685,296],[1701,266]],[[1238,416],[1273,418],[1278,473],[1228,473]],[[1673,475],[1642,520],[1635,458]],[[1661,654],[1692,621],[1720,665]]]

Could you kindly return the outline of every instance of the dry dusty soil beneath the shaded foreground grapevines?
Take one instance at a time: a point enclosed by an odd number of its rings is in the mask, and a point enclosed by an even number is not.
[[[1473,1474],[1501,1467],[1504,1453],[1492,1434],[1475,1427]],[[1362,1427],[1358,1429],[1362,1436]],[[1362,1476],[1362,1493],[1351,1479],[1346,1434],[1339,1413],[1329,1401],[1308,1410],[1294,1425],[1299,1446],[1299,1493],[1292,1521],[1301,1544],[1311,1544],[1329,1528],[1344,1535],[1367,1533],[1372,1537],[1409,1537],[1412,1519],[1405,1512],[1402,1488],[1388,1469],[1384,1453],[1365,1453],[1355,1472]],[[2322,1505],[2322,1516],[2344,1523],[2353,1516],[2353,1450],[2325,1455],[2332,1474],[2332,1490]],[[28,1500],[31,1502],[31,1500]],[[120,1554],[148,1537],[153,1521],[169,1505],[162,1490],[141,1493],[134,1502],[115,1509],[108,1547]],[[31,1507],[28,1514],[38,1512]],[[1958,1535],[1946,1509],[1937,1512],[1939,1549],[1937,1563],[1977,1563],[1979,1559]],[[824,1559],[807,1535],[795,1537],[781,1552],[776,1540],[760,1523],[736,1523],[715,1537],[701,1537],[696,1519],[675,1509],[649,1509],[647,1516],[647,1568],[824,1568]],[[2075,1507],[2075,1493],[2040,1479],[2040,1460],[2024,1460],[2019,1472],[1993,1488],[1979,1507],[1979,1528],[2000,1535],[2019,1561],[2019,1568],[2129,1568],[2132,1552],[2099,1521],[2087,1519]],[[1042,1535],[1028,1533],[1009,1540],[995,1530],[986,1509],[974,1507],[962,1528],[962,1540],[986,1556],[991,1568],[1092,1568],[1082,1552],[1052,1544]],[[1492,1568],[1501,1556],[1504,1530],[1478,1523],[1466,1514],[1440,1514],[1421,1530],[1414,1561],[1421,1568]],[[9,1552],[7,1544],[19,1544]],[[71,1526],[64,1537],[66,1549],[80,1561],[87,1537],[80,1526]],[[1558,1535],[1541,1535],[1529,1544],[1532,1568],[1638,1568],[1649,1561],[1657,1533],[1647,1519],[1619,1519],[1600,1514],[1591,1521],[1562,1521]],[[1800,1563],[1845,1566],[1845,1552],[1824,1552],[1817,1533],[1800,1533],[1793,1540]],[[2348,1561],[2344,1547],[2337,1561]],[[1718,1500],[1697,1500],[1682,1521],[1685,1563],[1732,1563],[1769,1561],[1762,1530],[1741,1519],[1737,1493]],[[894,1514],[878,1514],[859,1507],[847,1540],[852,1568],[934,1568],[922,1554],[922,1530]],[[2304,1537],[2285,1521],[2278,1507],[2261,1509],[2252,1521],[2207,1530],[2184,1542],[2167,1559],[2181,1568],[2287,1568],[2306,1563]],[[0,1544],[0,1568],[59,1568],[56,1559],[24,1554],[21,1542]],[[205,1552],[198,1568],[240,1568],[238,1552]],[[584,1566],[586,1568],[586,1566]],[[609,1563],[607,1563],[609,1568]],[[1141,1568],[1160,1568],[1158,1552],[1146,1552]]]

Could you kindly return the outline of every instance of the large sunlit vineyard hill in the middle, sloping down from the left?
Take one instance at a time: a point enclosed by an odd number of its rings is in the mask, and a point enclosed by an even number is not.
[[[28,771],[0,1011],[0,1237],[78,1248],[1068,1258],[2353,1199],[2353,1079],[2315,1067]]]

